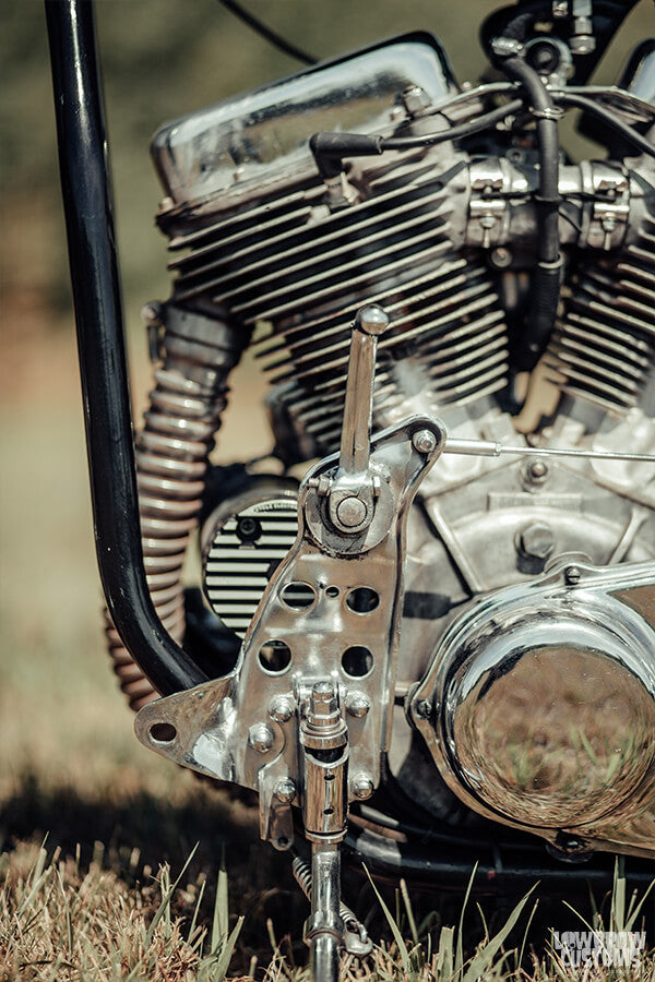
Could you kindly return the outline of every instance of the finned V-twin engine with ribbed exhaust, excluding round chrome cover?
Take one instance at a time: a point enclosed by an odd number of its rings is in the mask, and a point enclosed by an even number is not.
[[[643,132],[652,46],[635,64],[623,82],[634,95],[626,117]],[[564,86],[563,75],[551,73],[550,84]],[[538,230],[529,121],[517,113],[513,125],[466,140],[348,158],[326,178],[310,147],[319,131],[448,131],[489,98],[493,86],[460,87],[439,43],[413,34],[192,113],[153,143],[175,289],[164,312],[151,311],[165,363],[139,466],[146,562],[164,576],[154,599],[162,590],[170,630],[183,628],[176,571],[199,495],[203,587],[222,631],[243,636],[296,535],[287,479],[229,492],[218,481],[209,500],[203,492],[198,462],[247,345],[271,380],[273,454],[287,471],[338,448],[350,325],[367,303],[391,319],[378,348],[376,430],[428,412],[449,436],[526,447],[517,458],[444,454],[409,516],[389,768],[409,799],[450,822],[471,812],[437,776],[402,705],[449,625],[472,598],[531,583],[562,555],[593,566],[655,559],[650,464],[528,453],[655,453],[655,160],[629,156],[611,131],[607,159],[560,157],[561,299],[528,378],[514,350]],[[176,370],[184,384],[172,384]],[[200,450],[187,446],[167,469],[180,438]],[[133,700],[146,700],[116,639],[114,648]]]

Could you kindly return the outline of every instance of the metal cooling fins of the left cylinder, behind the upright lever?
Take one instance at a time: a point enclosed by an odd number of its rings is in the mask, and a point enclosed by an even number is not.
[[[369,166],[358,177],[365,200],[332,214],[313,176],[170,242],[191,250],[170,263],[178,300],[211,296],[233,323],[262,328],[258,357],[306,458],[338,444],[349,330],[364,303],[392,321],[378,414],[417,393],[464,405],[507,383],[504,313],[479,258],[454,247],[440,171],[425,151]]]

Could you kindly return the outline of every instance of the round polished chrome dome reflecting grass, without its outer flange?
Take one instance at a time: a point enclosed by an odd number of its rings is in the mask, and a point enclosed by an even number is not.
[[[595,599],[474,619],[445,655],[444,756],[513,822],[563,828],[620,812],[653,767],[653,652],[623,604]]]

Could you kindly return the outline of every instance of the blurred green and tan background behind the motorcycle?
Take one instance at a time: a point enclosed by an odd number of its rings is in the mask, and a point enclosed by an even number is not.
[[[245,0],[318,57],[415,28],[441,37],[460,81],[484,67],[477,40],[489,0]],[[166,298],[160,196],[148,158],[165,120],[293,72],[215,0],[99,0],[119,249],[132,349],[134,402],[148,372],[142,303]],[[43,5],[3,3],[0,32],[0,804],[26,768],[41,783],[91,788],[120,768],[132,787],[170,770],[133,740],[100,630],[55,145]],[[598,73],[616,79],[629,50],[653,33],[642,0]],[[218,456],[265,450],[262,383],[236,378]],[[243,427],[248,429],[245,430]],[[178,773],[178,781],[184,781]],[[2,826],[0,823],[0,833]]]

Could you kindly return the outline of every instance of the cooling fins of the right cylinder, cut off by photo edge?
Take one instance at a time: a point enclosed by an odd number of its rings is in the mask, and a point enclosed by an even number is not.
[[[617,259],[581,265],[546,356],[552,381],[612,412],[640,403],[655,363],[655,223]]]

